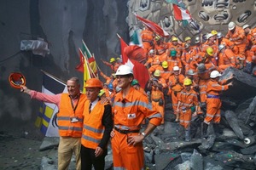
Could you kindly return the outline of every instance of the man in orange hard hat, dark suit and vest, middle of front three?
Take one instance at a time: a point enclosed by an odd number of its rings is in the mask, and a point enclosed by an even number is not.
[[[103,88],[99,79],[91,78],[85,83],[87,99],[84,103],[84,126],[81,146],[82,170],[103,170],[107,145],[113,128],[111,105],[101,102],[99,93]]]

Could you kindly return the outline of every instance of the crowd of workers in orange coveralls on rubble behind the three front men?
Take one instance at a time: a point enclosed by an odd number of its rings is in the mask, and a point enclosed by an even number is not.
[[[148,68],[150,80],[143,89],[137,80],[131,83],[148,96],[156,111],[164,117],[166,96],[172,99],[172,110],[181,129],[185,130],[185,140],[189,141],[192,116],[204,113],[203,136],[207,136],[210,122],[218,129],[221,100],[219,94],[232,85],[228,80],[219,82],[218,77],[228,67],[234,67],[256,76],[256,28],[248,25],[236,26],[230,22],[227,34],[212,30],[205,37],[185,37],[180,41],[172,36],[170,40],[156,35],[145,27],[141,31],[143,48],[147,59],[143,63]],[[108,62],[104,61],[104,64]],[[113,75],[107,77],[105,88],[108,99],[117,93],[114,72],[120,65],[120,58],[110,59]],[[166,113],[168,114],[168,113]],[[164,123],[164,119],[162,122]],[[180,129],[179,129],[180,130]],[[217,130],[216,130],[217,131]]]

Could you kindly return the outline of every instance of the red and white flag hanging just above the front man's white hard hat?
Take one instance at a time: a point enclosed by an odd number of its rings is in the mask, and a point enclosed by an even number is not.
[[[129,46],[121,37],[119,38],[121,43],[121,54],[123,64],[131,66],[134,77],[140,83],[140,86],[142,88],[145,88],[146,83],[148,82],[149,79],[148,69],[143,64],[139,63],[137,60],[129,59],[129,56],[127,56],[127,54],[125,53],[125,48],[129,48]]]

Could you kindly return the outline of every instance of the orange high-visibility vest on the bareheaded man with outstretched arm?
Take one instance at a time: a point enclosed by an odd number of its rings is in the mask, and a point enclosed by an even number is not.
[[[58,126],[59,133],[62,137],[75,137],[82,136],[83,129],[83,111],[84,101],[86,100],[85,94],[80,94],[78,104],[71,104],[71,99],[68,94],[61,94],[60,111],[58,113]],[[75,111],[74,111],[75,110]],[[72,122],[72,120],[77,120]]]

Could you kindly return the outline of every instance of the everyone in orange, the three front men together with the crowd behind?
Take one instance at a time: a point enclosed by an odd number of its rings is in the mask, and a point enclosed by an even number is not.
[[[184,42],[172,36],[168,42],[154,32],[141,32],[143,48],[147,51],[150,79],[145,88],[134,79],[128,65],[121,58],[111,58],[112,74],[102,83],[91,78],[86,81],[86,94],[79,91],[76,77],[67,81],[68,94],[48,95],[21,87],[32,99],[54,103],[59,107],[58,126],[60,144],[58,168],[67,169],[73,152],[77,169],[104,169],[108,140],[113,150],[113,169],[143,169],[143,139],[164,123],[166,98],[172,100],[172,111],[179,123],[182,139],[191,140],[190,124],[193,116],[202,116],[202,137],[207,127],[220,122],[221,91],[232,82],[220,82],[221,73],[235,67],[255,75],[254,39],[256,30],[242,28],[230,22],[228,33],[212,30],[206,42],[201,37],[185,37]],[[194,45],[193,45],[194,44]],[[148,118],[148,122],[145,121]],[[148,123],[143,132],[141,127]]]

